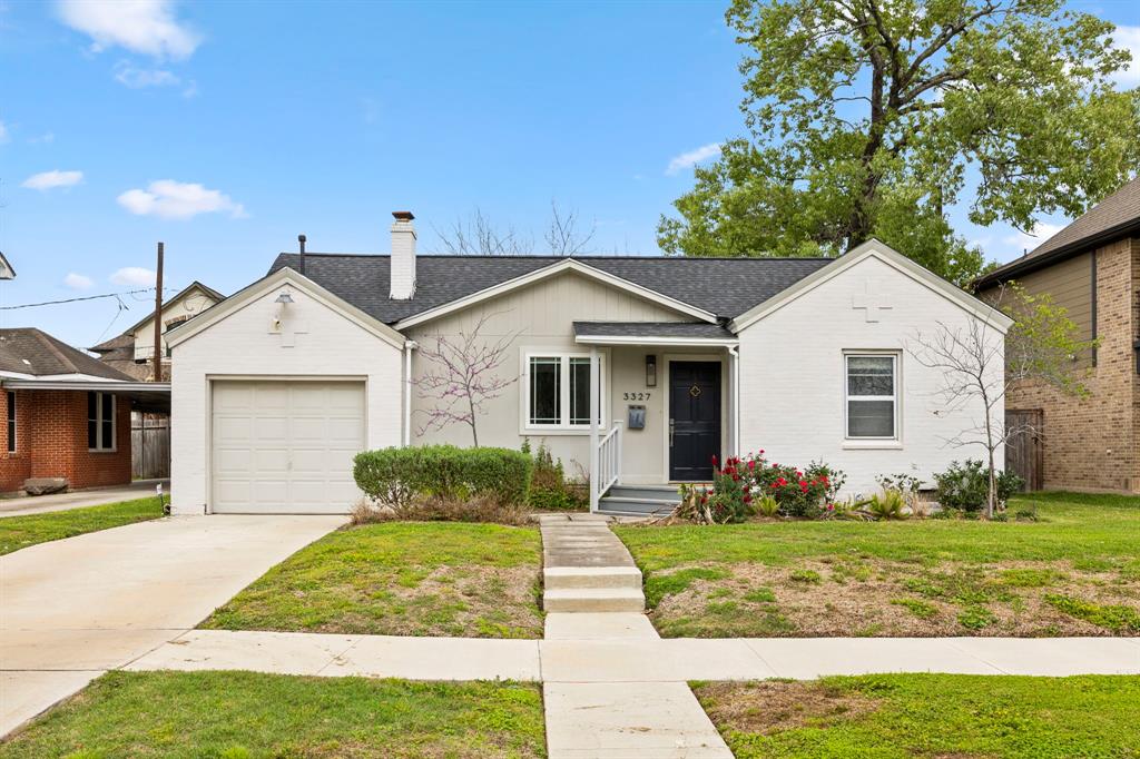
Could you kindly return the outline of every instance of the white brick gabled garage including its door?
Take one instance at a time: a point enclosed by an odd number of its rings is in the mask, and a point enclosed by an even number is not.
[[[174,514],[347,514],[407,434],[404,336],[291,269],[166,337]]]

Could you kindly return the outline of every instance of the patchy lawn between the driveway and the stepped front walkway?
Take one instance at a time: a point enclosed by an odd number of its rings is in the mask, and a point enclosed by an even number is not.
[[[204,628],[538,638],[535,528],[388,522],[302,548],[218,609]]]

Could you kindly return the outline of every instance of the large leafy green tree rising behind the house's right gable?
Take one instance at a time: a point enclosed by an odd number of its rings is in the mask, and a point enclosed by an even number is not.
[[[878,237],[966,283],[946,209],[1028,230],[1140,165],[1140,90],[1114,25],[1060,0],[734,0],[747,138],[662,217],[686,255],[837,255]]]

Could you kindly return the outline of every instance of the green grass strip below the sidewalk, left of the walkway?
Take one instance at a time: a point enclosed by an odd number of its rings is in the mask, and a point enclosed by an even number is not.
[[[522,758],[544,745],[535,685],[114,671],[0,758]]]

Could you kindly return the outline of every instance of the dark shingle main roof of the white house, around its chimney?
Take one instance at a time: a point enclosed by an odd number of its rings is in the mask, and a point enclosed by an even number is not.
[[[389,300],[388,255],[308,253],[304,275],[369,316],[394,324],[561,260],[548,255],[421,254],[416,256],[416,294],[410,301]],[[575,260],[732,319],[833,259],[579,256]],[[269,274],[283,267],[300,270],[300,255],[282,253]]]

